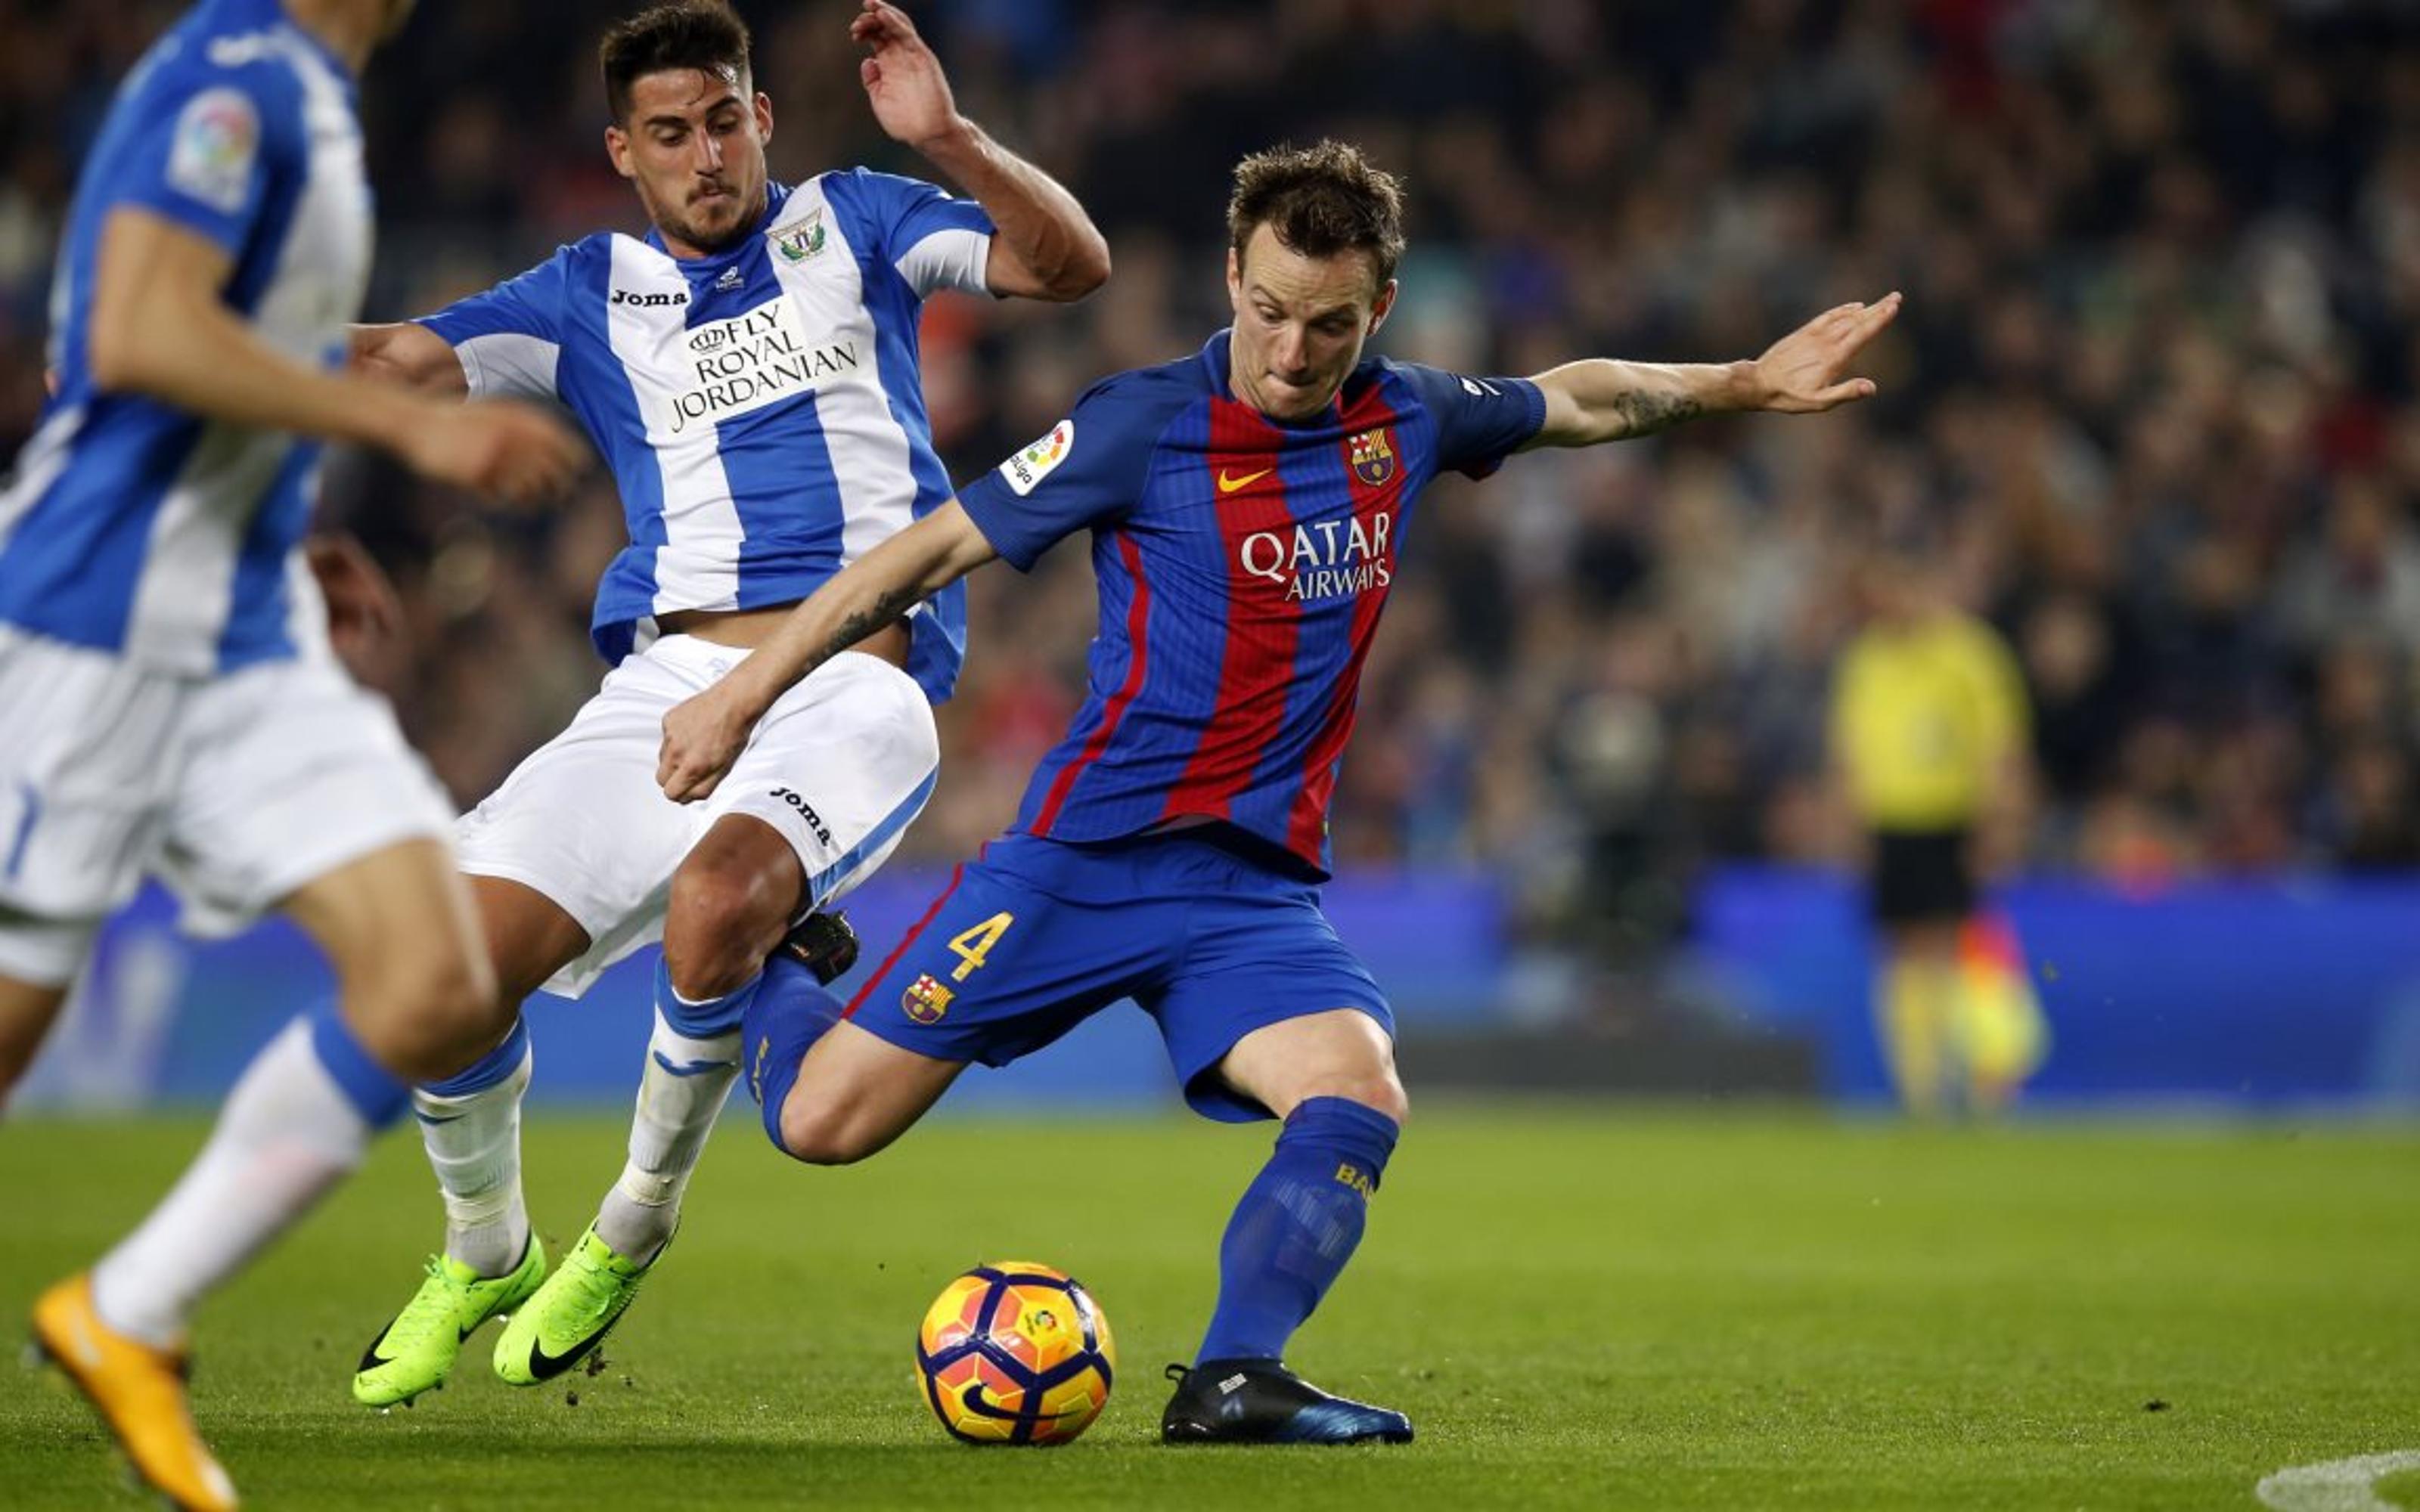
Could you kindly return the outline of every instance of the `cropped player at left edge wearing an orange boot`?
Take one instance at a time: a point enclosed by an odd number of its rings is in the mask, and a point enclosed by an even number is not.
[[[184,1323],[491,1043],[450,815],[334,665],[298,539],[317,440],[535,498],[581,445],[515,404],[332,373],[370,266],[353,75],[409,0],[206,0],[128,75],[53,295],[53,397],[0,496],[0,1096],[145,873],[189,924],[283,910],[336,968],[133,1236],[34,1309],[36,1345],[182,1507],[232,1507]]]

